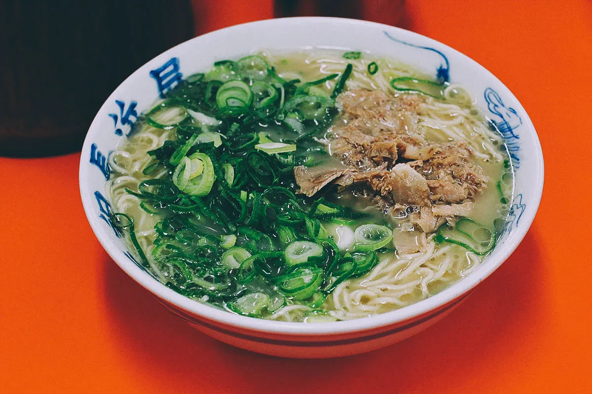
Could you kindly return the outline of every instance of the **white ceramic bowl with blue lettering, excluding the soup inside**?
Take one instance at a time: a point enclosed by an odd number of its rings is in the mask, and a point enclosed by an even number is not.
[[[106,157],[126,138],[131,123],[182,76],[203,71],[214,61],[240,58],[260,49],[339,47],[368,50],[461,83],[482,112],[497,123],[514,157],[516,196],[500,242],[484,263],[445,291],[400,310],[352,321],[285,323],[243,317],[185,298],[137,265],[110,226],[105,196]],[[487,278],[525,236],[543,188],[539,139],[516,97],[475,61],[430,38],[387,25],[337,18],[288,18],[252,22],[205,34],[160,54],[126,79],[99,110],[82,148],[82,203],[101,245],[135,281],[198,330],[218,340],[260,353],[285,357],[334,357],[379,349],[439,321]]]

